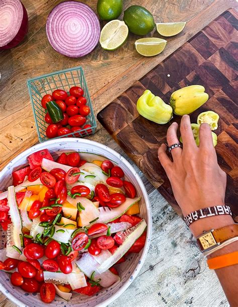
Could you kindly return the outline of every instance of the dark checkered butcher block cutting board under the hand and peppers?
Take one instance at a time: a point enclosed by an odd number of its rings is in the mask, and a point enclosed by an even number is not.
[[[225,203],[231,207],[233,217],[237,217],[237,38],[237,12],[230,9],[97,114],[103,127],[180,215],[169,180],[158,162],[157,150],[166,142],[170,124],[173,121],[179,124],[181,117],[174,116],[165,125],[153,123],[139,115],[137,100],[146,89],[168,103],[171,93],[182,87],[195,84],[205,87],[209,100],[190,118],[196,123],[198,114],[208,110],[220,116],[214,131],[218,137],[215,148],[218,163],[227,174]]]

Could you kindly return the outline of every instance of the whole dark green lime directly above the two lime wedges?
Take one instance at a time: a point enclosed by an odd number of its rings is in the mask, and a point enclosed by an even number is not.
[[[155,27],[153,15],[141,6],[131,6],[124,12],[129,31],[137,35],[146,35]]]

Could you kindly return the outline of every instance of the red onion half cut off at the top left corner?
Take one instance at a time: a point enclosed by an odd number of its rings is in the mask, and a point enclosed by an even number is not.
[[[27,10],[20,0],[0,0],[0,50],[16,47],[28,32]]]

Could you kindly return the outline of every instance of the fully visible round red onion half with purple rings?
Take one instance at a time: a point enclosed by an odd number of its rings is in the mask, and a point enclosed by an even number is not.
[[[100,24],[93,10],[84,3],[62,2],[47,18],[46,35],[59,53],[80,57],[90,53],[97,45]]]

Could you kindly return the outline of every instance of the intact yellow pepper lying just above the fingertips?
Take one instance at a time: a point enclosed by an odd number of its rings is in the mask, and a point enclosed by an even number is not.
[[[197,110],[208,100],[208,94],[201,85],[191,85],[179,89],[170,97],[170,105],[174,114],[185,115]]]

